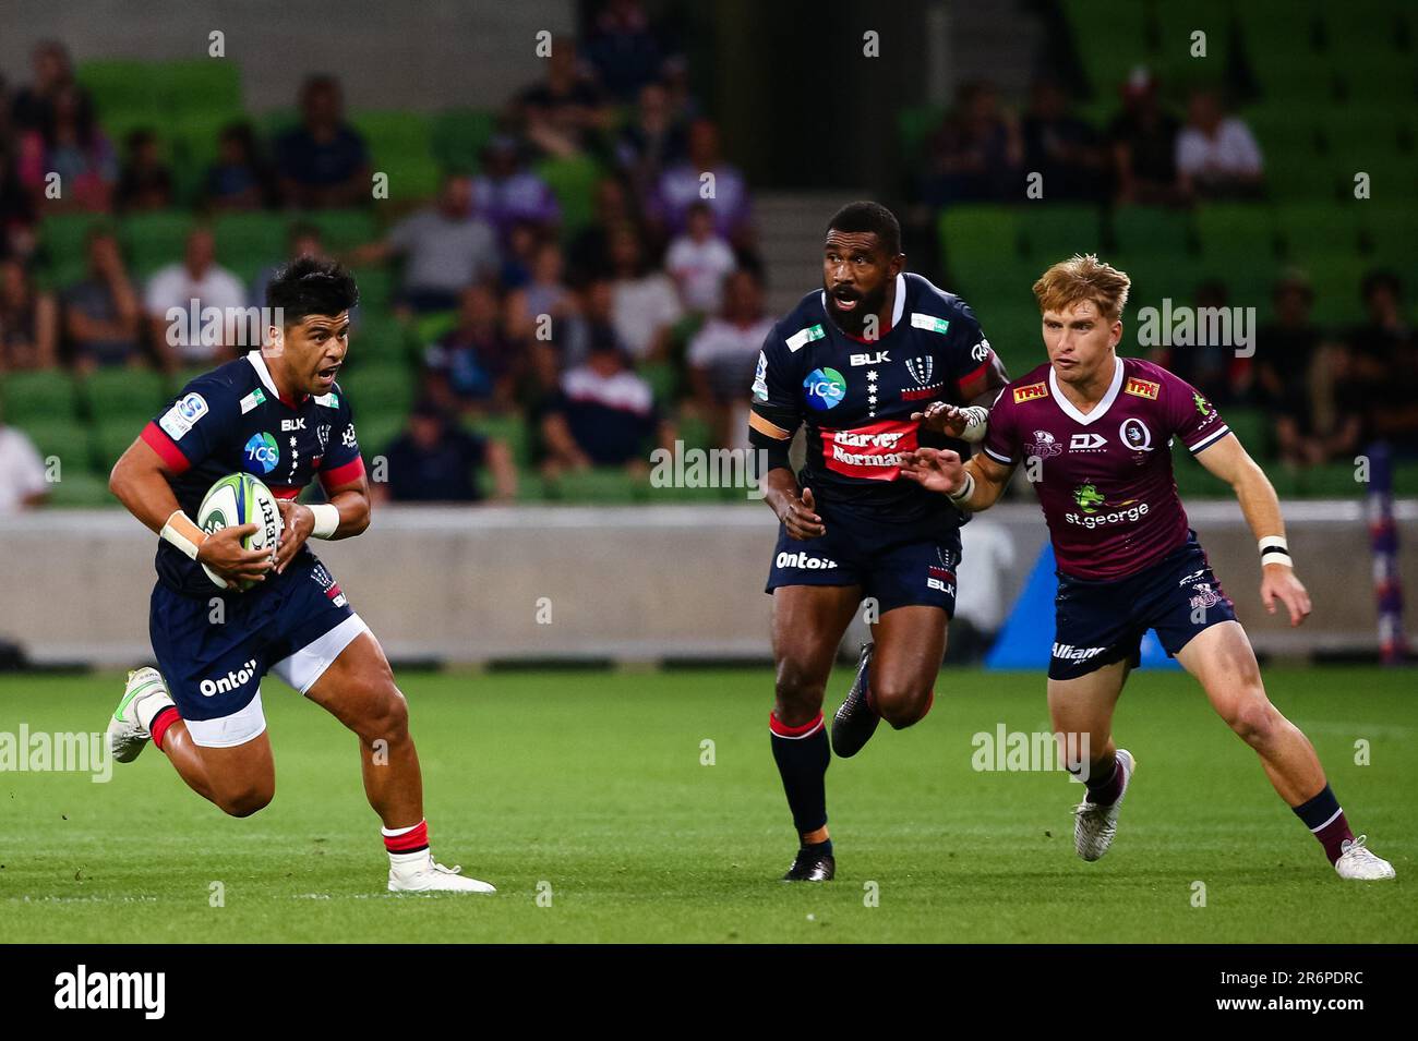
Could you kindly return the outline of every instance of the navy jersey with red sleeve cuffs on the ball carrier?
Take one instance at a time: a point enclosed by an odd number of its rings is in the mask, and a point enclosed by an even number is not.
[[[316,476],[330,489],[364,473],[339,384],[329,394],[285,399],[258,350],[189,382],[143,428],[142,439],[173,472],[167,483],[193,518],[207,490],[230,473],[259,477],[277,499],[295,499]],[[311,551],[301,547],[301,552]],[[217,592],[201,565],[170,542],[159,541],[156,568],[157,578],[177,592]]]

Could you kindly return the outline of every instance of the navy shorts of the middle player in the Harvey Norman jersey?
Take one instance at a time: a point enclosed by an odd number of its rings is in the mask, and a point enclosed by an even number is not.
[[[778,525],[769,584],[764,592],[784,585],[859,585],[862,596],[876,599],[878,610],[893,608],[943,608],[956,613],[956,568],[960,567],[957,514],[942,514],[929,524],[893,524],[889,518],[859,514],[820,503],[817,514],[827,534],[805,541],[788,537]]]

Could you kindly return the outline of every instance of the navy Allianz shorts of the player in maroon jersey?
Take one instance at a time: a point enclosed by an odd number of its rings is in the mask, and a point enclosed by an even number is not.
[[[1056,574],[1051,680],[1076,680],[1124,659],[1136,669],[1149,629],[1174,657],[1197,633],[1235,620],[1195,531],[1136,575],[1090,582]]]

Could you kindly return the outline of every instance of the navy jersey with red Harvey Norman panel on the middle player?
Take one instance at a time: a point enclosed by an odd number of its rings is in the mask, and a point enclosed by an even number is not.
[[[818,290],[769,333],[753,404],[788,433],[807,425],[803,483],[818,503],[865,507],[896,521],[953,513],[949,500],[900,480],[900,456],[964,442],[920,431],[912,412],[967,405],[986,388],[993,351],[974,312],[919,275],[896,276],[891,323],[873,341],[844,333]],[[944,506],[943,506],[944,504]]]

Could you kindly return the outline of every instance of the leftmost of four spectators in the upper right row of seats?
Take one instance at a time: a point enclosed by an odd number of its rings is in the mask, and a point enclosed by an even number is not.
[[[994,85],[960,85],[956,108],[930,142],[925,198],[932,205],[1017,200],[1024,195],[1018,120],[1000,106]]]

